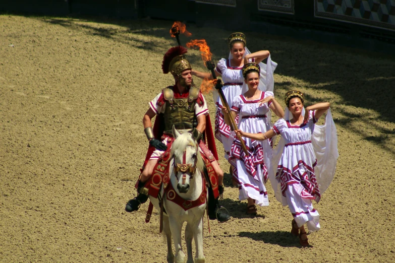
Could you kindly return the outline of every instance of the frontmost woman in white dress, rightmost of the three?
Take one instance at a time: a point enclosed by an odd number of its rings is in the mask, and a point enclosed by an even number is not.
[[[285,96],[285,102],[292,114],[292,119],[277,120],[273,128],[266,131],[266,133],[251,134],[237,130],[236,135],[258,141],[281,135],[281,140],[285,140],[285,144],[283,144],[284,150],[278,161],[275,178],[280,185],[279,188],[283,199],[286,199],[285,205],[288,205],[294,217],[291,233],[299,235],[301,245],[307,246],[309,243],[304,224],[307,223],[310,232],[320,229],[319,214],[312,205],[312,200],[318,203],[321,198],[320,189],[318,188],[319,183],[317,183],[318,176],[316,177],[314,172],[317,159],[312,136],[314,124],[329,109],[329,103],[322,102],[306,107],[306,113],[303,114],[304,95],[298,90],[288,91]],[[328,112],[328,115],[330,115],[330,112]],[[335,141],[337,145],[337,137]],[[335,147],[335,154],[337,154],[337,146]],[[334,156],[334,161],[336,161],[337,156]],[[329,159],[333,158],[330,157]],[[332,178],[333,174],[334,169],[332,169]],[[331,179],[329,183],[330,181]]]

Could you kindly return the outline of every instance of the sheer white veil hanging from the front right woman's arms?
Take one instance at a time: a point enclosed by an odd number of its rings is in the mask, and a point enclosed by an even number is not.
[[[304,114],[305,109],[303,108],[302,115]],[[286,108],[284,119],[289,120],[290,118],[290,111]],[[334,173],[336,171],[337,158],[339,156],[337,151],[337,130],[333,122],[330,108],[326,113],[325,124],[315,124],[311,142],[313,144],[315,157],[317,158],[317,165],[314,167],[314,174],[317,179],[318,188],[322,194],[333,180]],[[277,147],[273,149],[272,153],[272,167],[274,175],[277,172],[278,162],[281,154],[283,154],[284,147],[285,140],[281,137]],[[269,176],[270,175],[270,183],[273,187],[275,198],[286,206],[288,204],[287,199],[281,193],[280,183],[275,179],[273,173],[269,173]]]

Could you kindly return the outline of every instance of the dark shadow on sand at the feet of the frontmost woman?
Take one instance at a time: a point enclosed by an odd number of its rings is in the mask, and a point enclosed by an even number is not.
[[[286,231],[240,232],[239,236],[283,247],[302,247],[299,238]]]

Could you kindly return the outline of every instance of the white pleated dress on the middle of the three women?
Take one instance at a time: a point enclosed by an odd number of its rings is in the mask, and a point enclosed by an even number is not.
[[[246,100],[243,95],[235,98],[232,110],[238,112],[239,129],[247,133],[265,133],[269,130],[270,123],[266,114],[271,114],[269,106],[271,102],[259,106],[258,102],[268,96],[273,96],[272,92],[261,92],[260,99]],[[268,206],[269,200],[265,183],[268,178],[268,170],[271,169],[271,141],[256,141],[243,138],[249,152],[246,156],[238,138],[233,139],[230,161],[236,163],[233,170],[234,179],[239,186],[239,199],[246,200],[252,198],[259,206]]]

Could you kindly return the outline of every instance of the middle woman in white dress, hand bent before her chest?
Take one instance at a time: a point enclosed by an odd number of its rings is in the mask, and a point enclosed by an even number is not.
[[[243,67],[244,82],[248,90],[233,100],[232,116],[239,118],[238,128],[249,133],[265,133],[271,128],[268,121],[270,109],[280,118],[284,116],[283,108],[274,99],[271,91],[262,91],[259,88],[259,65],[249,62]],[[222,108],[227,113],[226,108]],[[227,124],[229,120],[225,119]],[[268,170],[271,169],[271,142],[244,140],[249,155],[241,147],[240,140],[235,137],[231,147],[229,160],[236,165],[233,176],[239,186],[239,199],[247,200],[247,214],[256,214],[256,206],[268,206],[265,183]]]

